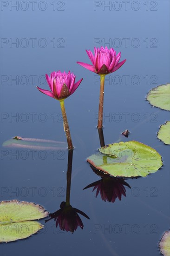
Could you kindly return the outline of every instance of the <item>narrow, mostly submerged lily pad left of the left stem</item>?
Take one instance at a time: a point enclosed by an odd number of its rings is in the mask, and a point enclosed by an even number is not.
[[[13,139],[4,141],[3,147],[9,148],[29,148],[39,150],[51,150],[51,149],[67,149],[67,143],[62,141],[52,141],[36,138],[22,138],[15,136]]]

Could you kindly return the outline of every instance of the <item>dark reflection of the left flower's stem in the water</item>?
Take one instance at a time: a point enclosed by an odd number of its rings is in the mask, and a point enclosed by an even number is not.
[[[66,189],[66,206],[70,205],[70,189],[71,189],[71,179],[72,179],[72,155],[73,150],[68,151],[68,165],[67,165],[67,189]]]

